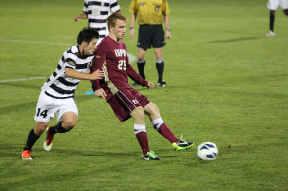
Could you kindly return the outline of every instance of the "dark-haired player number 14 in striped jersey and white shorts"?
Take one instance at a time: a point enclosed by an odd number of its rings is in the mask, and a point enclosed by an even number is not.
[[[42,86],[36,106],[36,126],[30,130],[22,159],[32,160],[31,149],[41,134],[47,130],[44,149],[50,151],[55,133],[71,130],[77,122],[78,108],[74,98],[80,80],[97,80],[104,77],[103,71],[90,73],[90,63],[95,57],[99,33],[93,28],[84,28],[77,37],[78,45],[69,47],[59,60],[54,73]],[[48,127],[56,114],[57,125]]]

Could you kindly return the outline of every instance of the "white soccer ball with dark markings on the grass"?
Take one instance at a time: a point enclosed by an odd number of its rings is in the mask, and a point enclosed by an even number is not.
[[[197,148],[197,156],[201,160],[215,160],[218,153],[218,148],[213,142],[203,142]]]

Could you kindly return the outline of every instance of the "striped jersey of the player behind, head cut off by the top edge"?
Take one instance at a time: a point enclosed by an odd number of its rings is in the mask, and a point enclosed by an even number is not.
[[[88,27],[95,28],[100,35],[97,44],[109,34],[106,18],[119,10],[117,0],[85,0],[83,12],[88,16]]]

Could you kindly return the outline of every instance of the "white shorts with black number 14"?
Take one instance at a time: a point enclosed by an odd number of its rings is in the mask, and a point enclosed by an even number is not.
[[[78,116],[78,107],[74,98],[55,99],[41,91],[36,107],[34,120],[37,122],[49,122],[56,114],[57,121],[62,120],[64,113],[72,111]]]

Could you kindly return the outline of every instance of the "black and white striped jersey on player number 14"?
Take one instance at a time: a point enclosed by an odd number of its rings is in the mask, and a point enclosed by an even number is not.
[[[69,47],[60,58],[54,73],[43,84],[42,91],[45,91],[46,95],[57,99],[74,97],[75,89],[80,80],[66,77],[65,68],[72,68],[75,71],[86,73],[94,57],[95,55],[82,57],[77,45]]]

